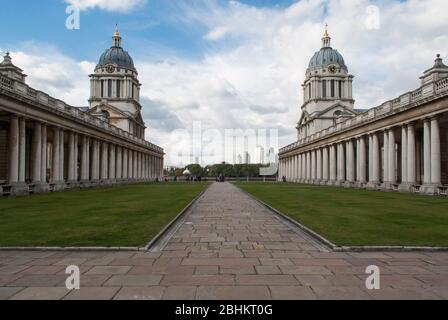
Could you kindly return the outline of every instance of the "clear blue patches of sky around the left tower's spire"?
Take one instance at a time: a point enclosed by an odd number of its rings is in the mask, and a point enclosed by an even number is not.
[[[157,51],[176,51],[184,57],[199,58],[208,49],[202,39],[206,28],[200,25],[179,23],[172,19],[179,11],[178,1],[149,0],[130,12],[104,11],[98,8],[83,11],[81,29],[67,30],[65,9],[62,0],[16,0],[2,3],[0,27],[9,32],[2,34],[2,43],[14,47],[20,42],[55,44],[62,53],[77,59],[96,59],[110,45],[110,35],[116,23],[126,37],[126,47],[137,55],[156,47]],[[186,1],[187,3],[189,1]],[[217,1],[226,6],[228,1]],[[240,1],[256,7],[284,8],[293,0],[245,0]],[[191,3],[191,1],[190,1]],[[198,2],[198,6],[202,6]],[[20,21],[17,23],[17,13]],[[14,28],[11,28],[14,26]]]

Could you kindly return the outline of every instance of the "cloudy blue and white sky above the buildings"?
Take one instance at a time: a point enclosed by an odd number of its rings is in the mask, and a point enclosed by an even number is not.
[[[80,9],[79,29],[66,28],[69,5]],[[301,84],[325,24],[355,76],[357,109],[417,88],[437,53],[448,58],[446,0],[16,0],[1,7],[0,51],[11,52],[29,85],[74,106],[88,105],[88,75],[118,23],[142,83],[146,138],[171,165],[204,152],[213,156],[203,164],[231,162],[226,147],[210,147],[229,129],[274,130],[277,147],[293,142]],[[195,146],[198,127],[210,150]]]

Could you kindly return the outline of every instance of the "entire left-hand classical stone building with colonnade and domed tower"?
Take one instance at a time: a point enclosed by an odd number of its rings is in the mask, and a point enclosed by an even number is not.
[[[89,107],[35,90],[0,63],[0,195],[31,194],[163,177],[163,149],[145,141],[140,83],[118,30],[91,78]]]

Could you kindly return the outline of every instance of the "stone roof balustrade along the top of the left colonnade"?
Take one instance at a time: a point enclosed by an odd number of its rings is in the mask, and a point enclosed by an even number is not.
[[[128,132],[123,131],[120,128],[117,128],[104,120],[98,119],[97,117],[82,112],[78,108],[72,107],[61,100],[55,99],[42,91],[37,91],[22,82],[16,81],[6,76],[0,76],[0,87],[8,91],[18,93],[22,96],[25,96],[26,98],[35,100],[41,104],[47,105],[50,108],[58,109],[59,111],[62,111],[67,115],[75,117],[78,120],[87,122],[89,124],[93,124],[96,127],[103,128],[112,134],[124,137],[128,140],[132,140],[143,146],[149,147],[153,151],[163,153],[163,148],[156,146],[144,139],[134,137],[130,135]]]

